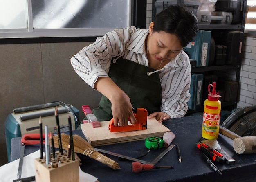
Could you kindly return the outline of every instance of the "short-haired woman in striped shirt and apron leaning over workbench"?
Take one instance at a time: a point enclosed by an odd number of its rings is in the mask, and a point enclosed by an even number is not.
[[[133,108],[145,108],[160,123],[186,114],[191,67],[182,49],[198,30],[197,18],[180,6],[158,13],[149,29],[115,29],[71,58],[76,73],[103,94],[92,110],[117,126],[136,122]]]

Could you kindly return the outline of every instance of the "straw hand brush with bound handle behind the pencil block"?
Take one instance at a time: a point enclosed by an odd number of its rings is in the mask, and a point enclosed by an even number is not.
[[[63,149],[68,151],[69,135],[62,133],[61,140],[62,140]],[[103,164],[106,164],[108,167],[111,167],[112,169],[115,169],[115,170],[120,169],[119,164],[117,162],[102,155],[98,151],[94,150],[94,148],[87,141],[85,141],[81,136],[74,134],[73,142],[74,142],[74,152],[81,153],[90,158],[93,158]],[[58,146],[58,136],[54,136],[54,144],[56,144],[55,146]]]

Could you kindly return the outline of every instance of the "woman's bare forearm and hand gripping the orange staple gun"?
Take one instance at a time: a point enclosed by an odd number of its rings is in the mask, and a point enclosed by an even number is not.
[[[128,125],[128,118],[131,124],[136,123],[130,98],[109,77],[99,77],[94,88],[110,100],[115,126]]]

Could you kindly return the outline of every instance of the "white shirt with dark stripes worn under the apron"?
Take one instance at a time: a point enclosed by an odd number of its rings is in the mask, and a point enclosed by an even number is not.
[[[108,77],[111,58],[124,59],[148,66],[144,42],[148,29],[127,27],[115,29],[83,48],[71,58],[76,73],[92,88],[99,77]],[[188,110],[191,67],[188,55],[182,50],[159,70],[162,86],[161,111],[170,118],[180,118]]]

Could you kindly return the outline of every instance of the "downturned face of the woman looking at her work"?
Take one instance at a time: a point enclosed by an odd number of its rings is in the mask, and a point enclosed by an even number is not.
[[[149,26],[148,53],[149,59],[153,62],[170,62],[183,49],[178,37],[171,33],[153,32],[154,23]]]

